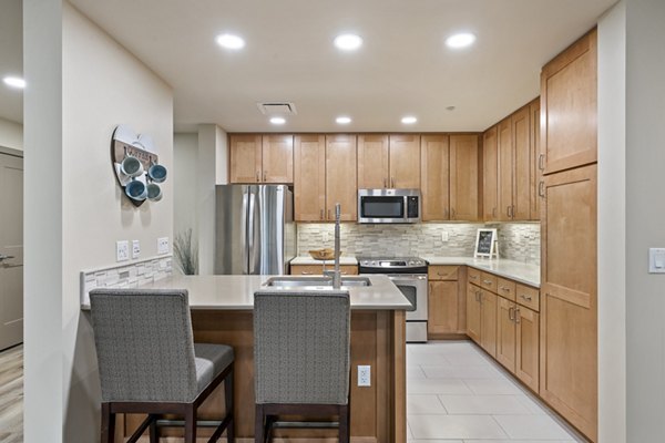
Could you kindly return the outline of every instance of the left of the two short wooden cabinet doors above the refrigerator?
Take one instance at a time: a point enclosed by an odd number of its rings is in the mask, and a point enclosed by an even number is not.
[[[231,136],[231,183],[260,183],[260,135]]]

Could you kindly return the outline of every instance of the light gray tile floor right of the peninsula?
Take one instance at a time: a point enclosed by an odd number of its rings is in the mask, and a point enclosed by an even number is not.
[[[470,341],[407,346],[409,443],[584,442]]]

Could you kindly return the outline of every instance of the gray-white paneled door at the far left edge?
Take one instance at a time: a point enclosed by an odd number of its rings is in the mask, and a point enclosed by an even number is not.
[[[0,154],[0,350],[23,341],[23,158]]]

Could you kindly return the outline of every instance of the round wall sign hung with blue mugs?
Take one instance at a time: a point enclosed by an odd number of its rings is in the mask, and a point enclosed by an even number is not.
[[[150,136],[119,125],[111,137],[111,161],[117,184],[134,206],[162,199],[160,183],[166,181],[167,169]]]

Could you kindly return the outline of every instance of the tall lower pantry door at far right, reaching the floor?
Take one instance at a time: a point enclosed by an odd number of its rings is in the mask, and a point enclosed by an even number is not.
[[[540,394],[596,441],[596,165],[545,175]]]

